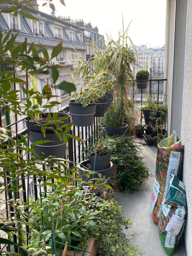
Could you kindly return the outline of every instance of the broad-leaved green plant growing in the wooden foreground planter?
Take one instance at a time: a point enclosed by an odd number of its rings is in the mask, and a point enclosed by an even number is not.
[[[57,190],[60,187],[62,186],[58,185]],[[43,235],[46,241],[51,237],[53,216],[56,241],[68,242],[69,245],[84,249],[87,239],[97,230],[94,222],[96,212],[87,212],[81,190],[73,189],[72,191],[48,193],[47,197],[42,199],[42,203],[36,202],[36,207],[31,211],[29,219],[30,247],[41,247],[44,241]],[[62,212],[61,203],[63,203]],[[34,199],[31,200],[31,204],[34,205]],[[51,241],[48,245],[52,245]]]

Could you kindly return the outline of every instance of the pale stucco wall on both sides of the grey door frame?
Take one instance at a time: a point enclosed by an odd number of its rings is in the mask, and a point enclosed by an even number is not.
[[[179,17],[178,17],[179,18]],[[188,203],[188,219],[185,227],[185,246],[187,255],[192,255],[192,0],[188,0],[187,9],[187,26],[186,26],[186,47],[185,47],[185,61],[182,66],[177,66],[178,72],[184,68],[184,84],[183,95],[180,97],[183,100],[182,116],[181,116],[181,141],[185,146],[184,166],[183,166],[183,181],[186,188],[186,197]],[[173,57],[174,57],[174,32],[175,32],[175,0],[167,0],[167,16],[166,16],[166,73],[165,77],[168,79],[166,83],[166,94],[168,104],[168,134],[170,134],[171,122],[171,99],[172,99],[172,83],[173,83]],[[182,61],[179,58],[179,61]],[[176,70],[177,72],[177,70]],[[181,86],[177,84],[176,86]],[[177,102],[176,102],[177,104]],[[175,111],[175,119],[180,118]],[[179,124],[179,121],[178,121]]]

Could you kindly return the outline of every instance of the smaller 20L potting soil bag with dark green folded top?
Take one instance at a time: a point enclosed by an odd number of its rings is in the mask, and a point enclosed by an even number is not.
[[[173,175],[167,196],[162,203],[158,224],[159,238],[167,255],[171,256],[173,254],[184,231],[186,218],[185,186],[182,181],[179,181]]]

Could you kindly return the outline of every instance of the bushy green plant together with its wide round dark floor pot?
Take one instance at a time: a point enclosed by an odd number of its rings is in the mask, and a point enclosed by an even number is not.
[[[128,125],[122,121],[122,103],[111,104],[109,110],[104,114],[102,125],[108,135],[124,134]]]

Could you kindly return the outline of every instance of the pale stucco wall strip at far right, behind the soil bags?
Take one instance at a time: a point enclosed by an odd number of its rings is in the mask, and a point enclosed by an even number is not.
[[[188,256],[192,255],[192,0],[188,0],[185,73],[183,88],[183,110],[181,121],[181,140],[185,146],[183,181],[188,203],[188,223],[185,230],[185,241]]]

